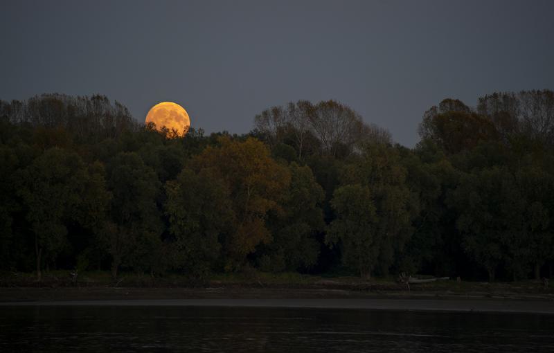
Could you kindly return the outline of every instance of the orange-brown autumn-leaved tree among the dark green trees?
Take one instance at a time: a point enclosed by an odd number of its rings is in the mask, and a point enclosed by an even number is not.
[[[269,156],[267,147],[254,138],[232,141],[220,138],[220,147],[207,147],[195,159],[196,170],[210,169],[229,190],[235,219],[224,241],[226,270],[242,266],[258,244],[271,242],[265,224],[269,210],[279,210],[279,201],[290,182],[283,165]]]

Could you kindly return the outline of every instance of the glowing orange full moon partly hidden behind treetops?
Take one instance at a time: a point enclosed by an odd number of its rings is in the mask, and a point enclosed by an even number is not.
[[[190,127],[190,118],[186,110],[174,102],[161,102],[150,108],[146,114],[146,123],[155,123],[156,129],[161,131],[162,127],[175,129],[177,135],[183,137]]]

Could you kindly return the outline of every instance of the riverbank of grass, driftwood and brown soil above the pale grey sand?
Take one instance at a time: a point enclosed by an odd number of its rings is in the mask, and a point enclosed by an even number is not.
[[[71,278],[67,271],[44,276],[30,274],[0,277],[0,302],[60,300],[185,300],[185,299],[449,299],[542,300],[554,302],[553,288],[536,281],[469,282],[438,280],[405,284],[391,279],[323,278],[298,273],[213,275],[202,283],[176,275],[152,278],[123,275],[117,281],[107,273],[83,273]]]

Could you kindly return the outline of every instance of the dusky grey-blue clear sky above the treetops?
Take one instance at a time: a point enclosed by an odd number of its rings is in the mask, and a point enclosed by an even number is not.
[[[554,1],[3,0],[0,39],[0,99],[171,100],[207,132],[335,99],[413,146],[443,98],[554,88]]]

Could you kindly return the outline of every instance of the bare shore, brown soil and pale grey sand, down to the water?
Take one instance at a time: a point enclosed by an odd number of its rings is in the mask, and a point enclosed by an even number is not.
[[[554,314],[544,297],[362,293],[310,289],[1,288],[0,306],[215,306]]]

